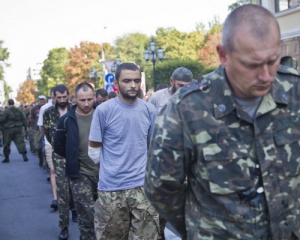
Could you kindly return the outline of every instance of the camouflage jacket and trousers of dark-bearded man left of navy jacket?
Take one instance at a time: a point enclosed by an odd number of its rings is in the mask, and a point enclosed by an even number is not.
[[[56,126],[60,119],[60,113],[55,106],[45,110],[43,115],[43,127],[48,142],[53,146]],[[66,160],[53,153],[53,166],[56,175],[57,203],[59,212],[59,226],[61,229],[69,227],[69,210],[75,209],[69,178],[65,176]]]

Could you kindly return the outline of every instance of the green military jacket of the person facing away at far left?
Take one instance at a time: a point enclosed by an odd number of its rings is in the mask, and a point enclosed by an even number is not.
[[[22,126],[27,127],[28,123],[24,113],[15,106],[11,106],[5,109],[2,114],[0,114],[0,124],[5,129]]]

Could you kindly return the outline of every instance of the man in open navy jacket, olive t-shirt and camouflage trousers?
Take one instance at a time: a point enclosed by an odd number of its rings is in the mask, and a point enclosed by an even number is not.
[[[96,240],[94,203],[97,199],[99,166],[88,156],[90,126],[94,113],[94,88],[86,82],[75,89],[76,105],[59,120],[54,152],[66,158],[66,175],[78,213],[81,240]]]

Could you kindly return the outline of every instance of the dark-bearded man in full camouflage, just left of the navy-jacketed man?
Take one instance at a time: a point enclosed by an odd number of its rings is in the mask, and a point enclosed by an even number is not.
[[[65,85],[57,85],[54,89],[56,103],[44,112],[43,127],[48,142],[54,144],[54,134],[59,119],[67,113],[71,105],[68,102],[69,90]],[[77,213],[75,210],[72,193],[70,191],[69,178],[65,176],[66,160],[53,153],[53,165],[56,175],[57,205],[59,213],[59,226],[61,232],[59,239],[67,239],[69,236],[69,210],[72,210],[72,220],[77,222]]]

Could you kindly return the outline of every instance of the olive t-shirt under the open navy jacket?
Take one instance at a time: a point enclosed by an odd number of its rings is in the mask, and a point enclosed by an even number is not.
[[[90,114],[88,116],[81,116],[76,113],[76,120],[79,132],[79,172],[88,176],[98,176],[99,168],[88,155],[88,142],[92,119],[93,114]]]

